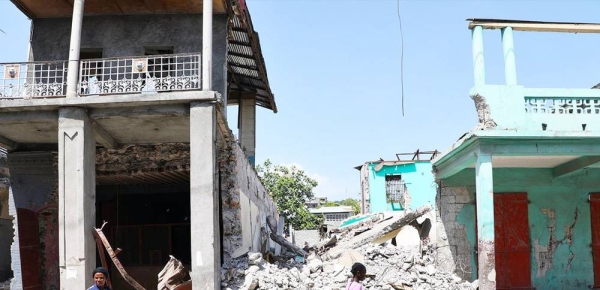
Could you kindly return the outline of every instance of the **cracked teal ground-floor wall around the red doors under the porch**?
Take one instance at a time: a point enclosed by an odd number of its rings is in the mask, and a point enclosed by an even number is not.
[[[473,195],[475,171],[465,169],[443,184],[466,186]],[[494,169],[494,192],[527,192],[533,287],[587,289],[593,284],[587,198],[588,193],[600,192],[600,169],[553,178],[552,169],[498,168]],[[467,227],[467,238],[474,247],[474,210],[464,206],[457,222]],[[473,267],[474,263],[473,259]]]

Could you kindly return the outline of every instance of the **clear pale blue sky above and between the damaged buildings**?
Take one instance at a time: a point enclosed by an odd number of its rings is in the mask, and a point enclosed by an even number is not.
[[[297,164],[330,199],[358,197],[354,166],[445,150],[475,126],[466,18],[600,22],[600,1],[247,0],[279,113],[257,109],[258,163]],[[0,0],[0,61],[24,61],[29,21]],[[504,81],[499,31],[484,34],[487,82]],[[600,82],[600,35],[515,32],[518,83]],[[236,109],[229,110],[235,126]],[[235,127],[234,131],[235,130]]]

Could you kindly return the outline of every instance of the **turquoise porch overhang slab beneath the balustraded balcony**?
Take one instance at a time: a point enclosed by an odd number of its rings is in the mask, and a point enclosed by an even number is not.
[[[525,135],[506,130],[474,131],[432,161],[436,179],[474,168],[482,154],[492,156],[493,168],[552,168],[554,177],[562,177],[599,166],[600,136],[592,132]]]

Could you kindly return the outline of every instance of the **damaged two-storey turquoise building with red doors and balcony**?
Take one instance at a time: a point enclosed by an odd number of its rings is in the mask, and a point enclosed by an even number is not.
[[[600,24],[469,21],[479,122],[432,161],[438,266],[480,289],[600,287],[600,91],[519,85],[513,44]],[[504,85],[486,83],[486,29],[501,30]]]

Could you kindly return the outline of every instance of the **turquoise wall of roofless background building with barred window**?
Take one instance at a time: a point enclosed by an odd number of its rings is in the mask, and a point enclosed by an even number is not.
[[[369,164],[369,202],[371,212],[402,210],[398,203],[388,203],[385,194],[385,176],[402,175],[411,196],[410,208],[416,209],[426,204],[435,206],[437,187],[431,163],[420,161],[410,164],[384,166],[375,171],[377,164]]]

